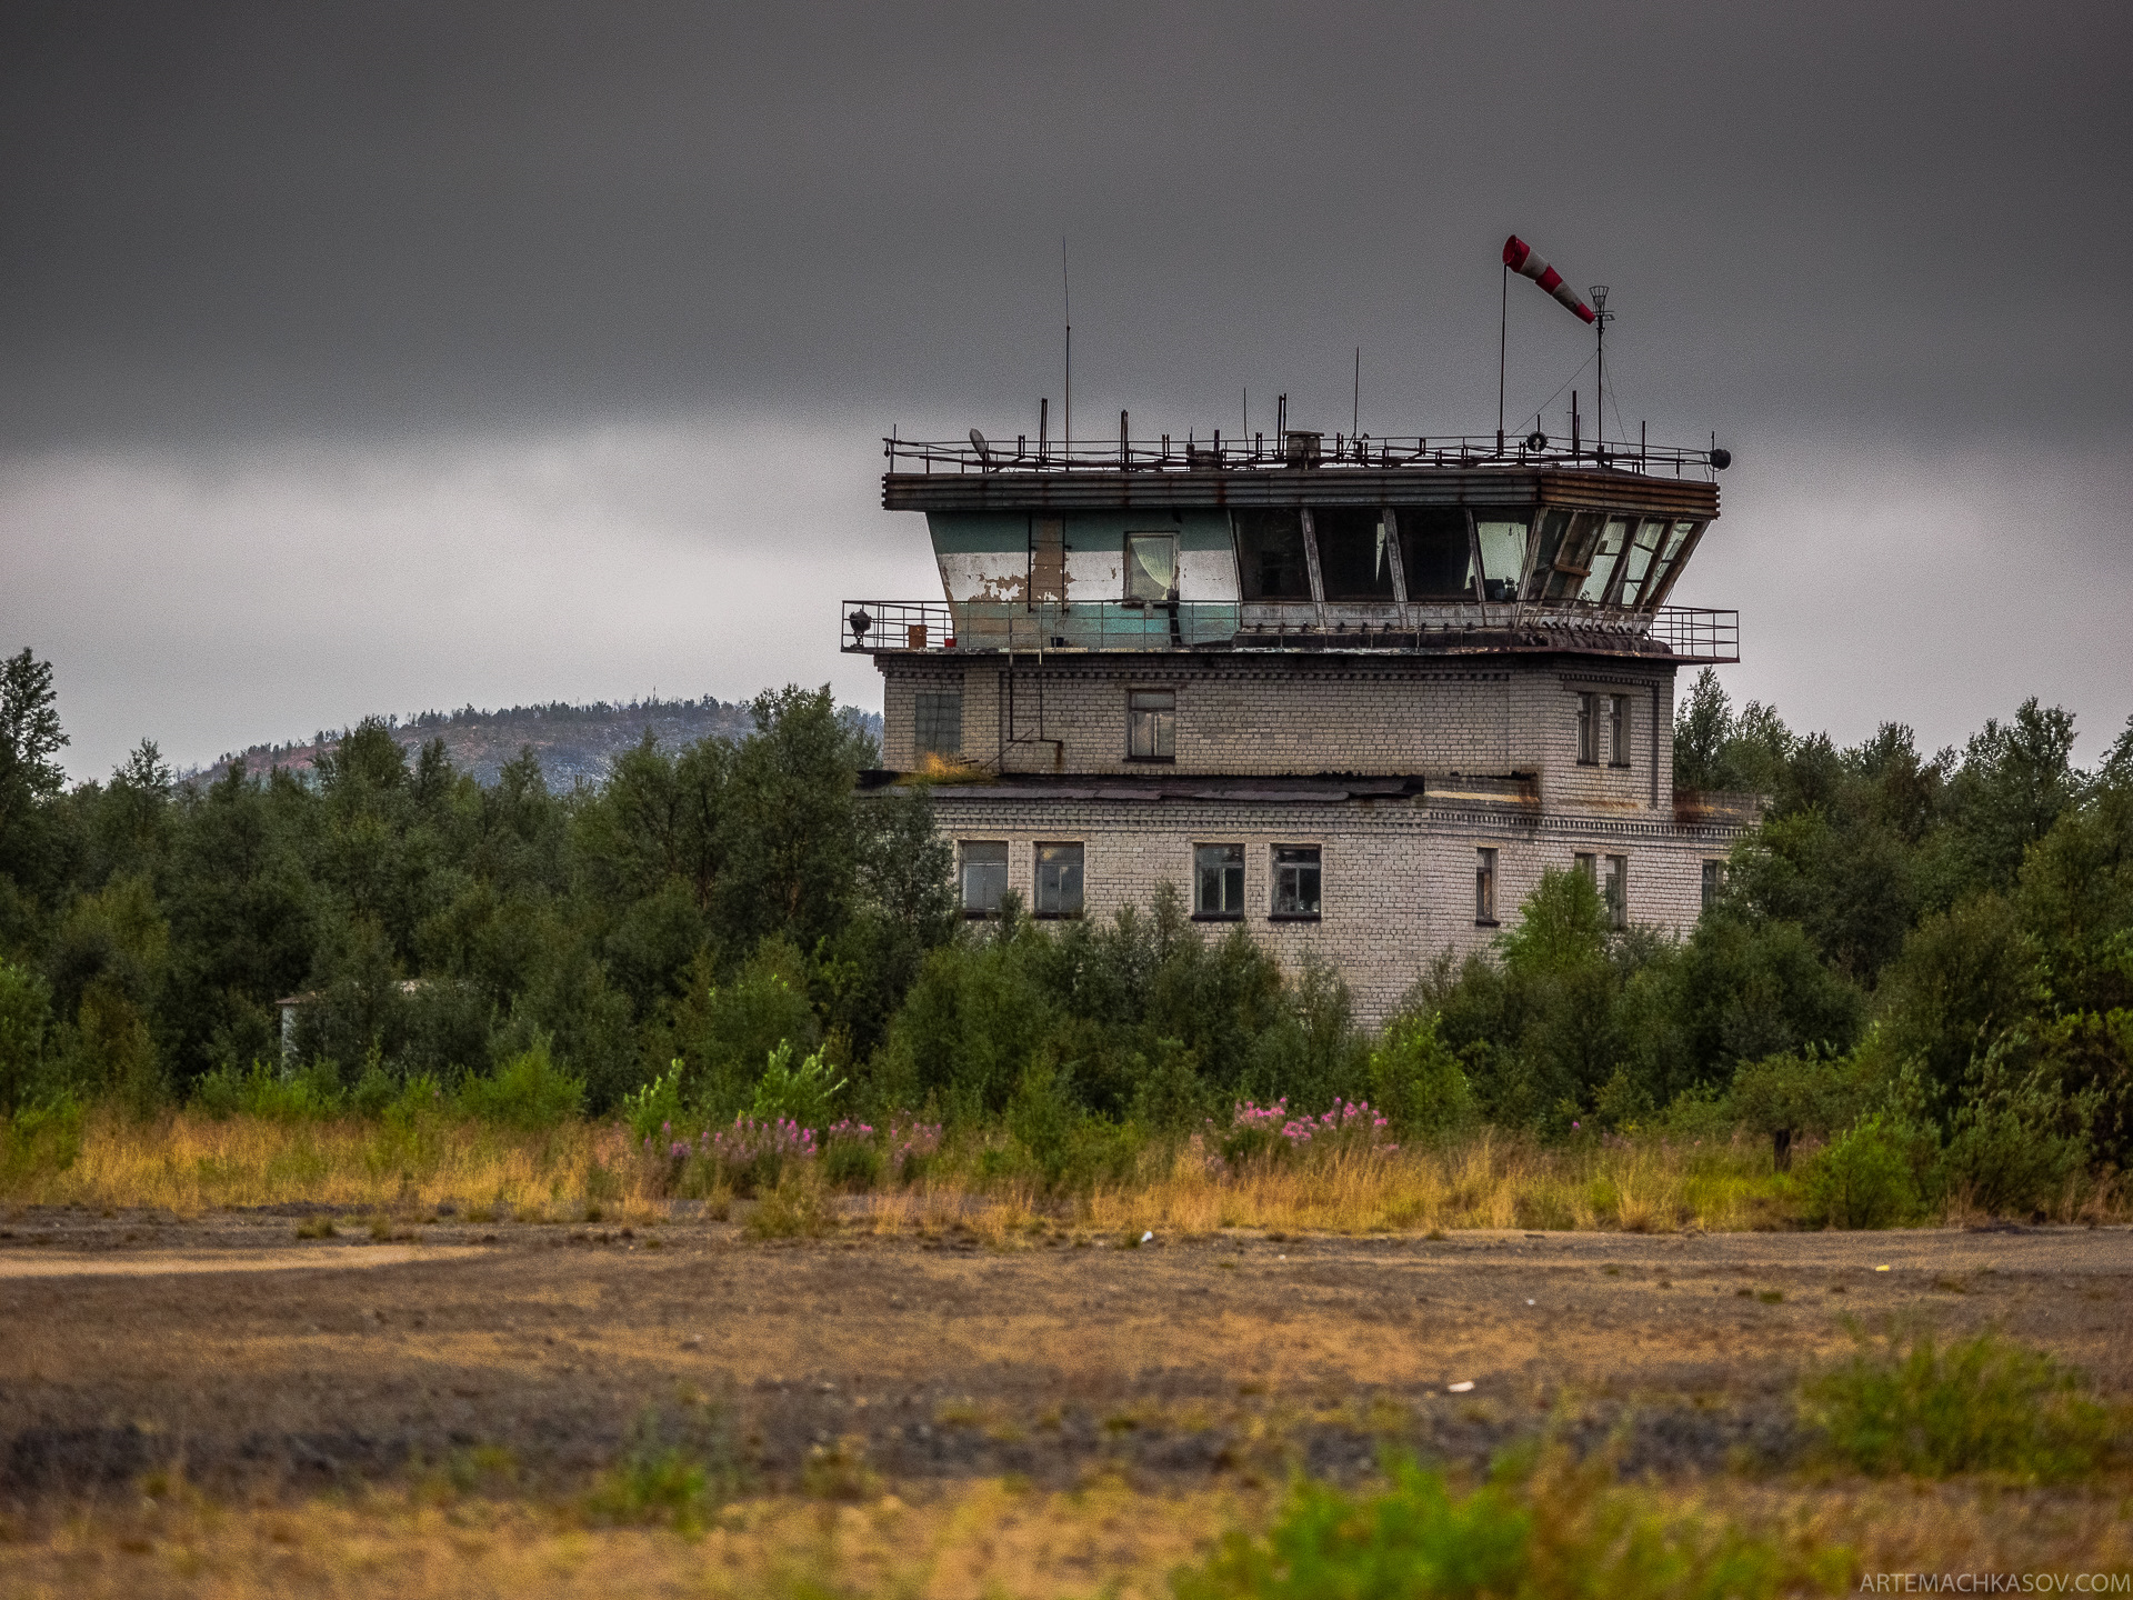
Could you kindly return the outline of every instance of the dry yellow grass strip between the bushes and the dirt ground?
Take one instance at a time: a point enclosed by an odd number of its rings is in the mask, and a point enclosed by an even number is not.
[[[1581,1141],[1536,1146],[1480,1131],[1442,1148],[1316,1152],[1244,1169],[1212,1169],[1197,1143],[1150,1146],[1124,1182],[1045,1197],[1028,1178],[979,1178],[975,1152],[909,1188],[847,1203],[845,1220],[870,1233],[968,1229],[1009,1244],[1032,1222],[1090,1231],[1293,1229],[1312,1233],[1421,1233],[1429,1229],[1608,1229],[1668,1233],[1698,1227],[1787,1227],[1796,1184],[1770,1169],[1753,1139]],[[663,1173],[612,1124],[570,1122],[512,1133],[482,1122],[416,1124],[360,1118],[275,1122],[173,1111],[137,1122],[92,1114],[68,1167],[34,1165],[0,1182],[19,1205],[164,1207],[181,1216],[224,1205],[324,1205],[395,1212],[454,1201],[476,1218],[580,1220],[668,1214]],[[802,1178],[819,1182],[819,1178]],[[715,1210],[723,1214],[717,1203]],[[2129,1190],[2105,1182],[2082,1218],[2122,1220]],[[1967,1210],[1950,1203],[1947,1220]],[[2069,1212],[2071,1220],[2071,1212]]]

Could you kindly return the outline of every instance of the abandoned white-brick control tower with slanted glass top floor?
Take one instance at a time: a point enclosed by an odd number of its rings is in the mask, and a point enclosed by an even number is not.
[[[1284,418],[1286,420],[1286,418]],[[932,794],[964,913],[1192,915],[1308,951],[1380,1022],[1544,868],[1687,928],[1745,823],[1672,783],[1668,606],[1723,450],[1578,439],[887,442],[941,602],[845,602],[885,681],[875,781]]]

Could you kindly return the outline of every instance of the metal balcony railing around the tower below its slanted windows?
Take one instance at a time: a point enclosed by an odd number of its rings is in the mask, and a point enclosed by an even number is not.
[[[1308,606],[1224,599],[1015,602],[847,599],[843,649],[1043,651],[1514,651],[1741,659],[1741,612],[1659,606],[1655,612],[1517,602],[1465,606]]]

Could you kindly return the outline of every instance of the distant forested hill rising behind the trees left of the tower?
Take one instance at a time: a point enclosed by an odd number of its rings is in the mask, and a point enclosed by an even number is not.
[[[877,740],[881,738],[879,713],[845,706],[845,715]],[[755,732],[747,702],[725,702],[710,695],[702,700],[631,700],[623,706],[606,700],[589,706],[555,700],[546,706],[512,706],[510,710],[465,706],[461,710],[424,710],[407,721],[388,717],[386,725],[410,755],[429,740],[442,738],[452,766],[471,772],[484,785],[495,783],[503,764],[516,759],[523,747],[531,747],[550,789],[570,789],[580,781],[602,783],[608,777],[608,764],[642,740],[646,727],[659,749],[668,751],[695,745],[700,738],[738,740]],[[254,745],[241,755],[226,755],[186,777],[211,783],[232,764],[243,764],[247,772],[267,772],[273,766],[303,770],[339,742],[341,734],[318,732],[309,740]]]

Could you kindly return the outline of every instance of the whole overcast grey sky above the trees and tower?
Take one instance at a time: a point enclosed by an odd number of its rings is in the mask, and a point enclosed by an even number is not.
[[[0,9],[0,649],[77,777],[802,681],[879,437],[1495,425],[1497,250],[1717,439],[1738,698],[2133,710],[2133,9]],[[1519,292],[1523,290],[1523,292]],[[1510,303],[1510,410],[1589,335]],[[1589,397],[1591,375],[1578,380]],[[1563,422],[1551,410],[1551,431]],[[1589,410],[1589,399],[1587,399]],[[1092,427],[1092,418],[1111,420]],[[1610,418],[1613,422],[1613,418]]]

